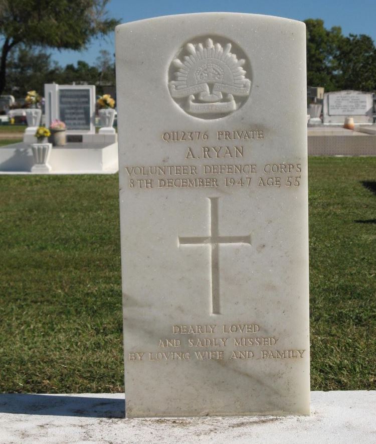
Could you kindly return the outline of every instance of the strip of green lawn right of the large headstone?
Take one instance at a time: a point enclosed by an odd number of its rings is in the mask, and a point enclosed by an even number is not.
[[[376,386],[376,158],[309,163],[311,387]]]

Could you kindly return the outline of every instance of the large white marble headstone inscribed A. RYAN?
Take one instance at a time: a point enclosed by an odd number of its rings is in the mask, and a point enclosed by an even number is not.
[[[309,414],[305,66],[293,20],[116,28],[127,417]]]

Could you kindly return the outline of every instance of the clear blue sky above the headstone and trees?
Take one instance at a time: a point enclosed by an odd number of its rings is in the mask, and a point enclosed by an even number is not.
[[[149,17],[199,12],[239,12],[287,17],[294,20],[323,19],[326,28],[340,26],[344,35],[367,34],[376,42],[376,0],[111,0],[109,15],[121,23]],[[54,51],[60,65],[84,60],[94,64],[99,51],[114,53],[114,33],[94,40],[84,51]]]

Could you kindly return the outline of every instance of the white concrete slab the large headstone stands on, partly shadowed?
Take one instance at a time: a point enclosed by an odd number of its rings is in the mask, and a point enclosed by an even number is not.
[[[0,394],[3,444],[373,444],[376,391],[311,392],[310,416],[124,419],[124,394]]]

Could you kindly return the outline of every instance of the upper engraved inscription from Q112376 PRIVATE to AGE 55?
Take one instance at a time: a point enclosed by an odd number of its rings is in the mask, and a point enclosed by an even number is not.
[[[124,168],[129,188],[163,190],[244,187],[256,191],[281,188],[294,190],[299,187],[301,164],[276,161],[266,161],[261,165],[252,163],[255,149],[265,147],[265,131],[257,127],[250,128],[161,132],[162,143],[170,144],[171,149],[180,154],[181,164],[163,165],[168,160],[166,157],[162,165],[126,165]],[[184,162],[189,164],[182,165]]]

